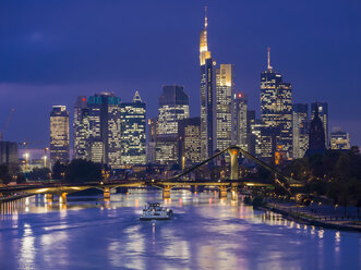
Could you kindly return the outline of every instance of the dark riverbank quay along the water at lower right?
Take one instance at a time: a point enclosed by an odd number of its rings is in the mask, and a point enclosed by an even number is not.
[[[322,226],[333,230],[361,232],[360,217],[336,214],[325,214],[318,208],[299,208],[296,205],[286,205],[279,202],[268,202],[263,206],[265,210],[282,214],[288,220],[305,223],[314,226]]]

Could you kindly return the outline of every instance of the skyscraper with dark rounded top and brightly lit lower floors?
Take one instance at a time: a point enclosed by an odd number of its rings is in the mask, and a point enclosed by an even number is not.
[[[190,101],[183,86],[163,87],[158,99],[158,135],[178,134],[178,121],[190,116]]]

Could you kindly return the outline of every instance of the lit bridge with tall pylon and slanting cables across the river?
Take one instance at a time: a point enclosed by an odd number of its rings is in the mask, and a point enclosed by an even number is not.
[[[201,165],[209,162],[210,160],[217,158],[218,156],[222,155],[224,152],[228,151],[230,155],[230,177],[226,181],[182,181],[180,180],[182,176],[186,175],[188,173],[198,169]],[[299,186],[300,183],[297,181],[289,179],[278,172],[276,169],[269,167],[268,164],[264,163],[262,160],[253,157],[248,151],[243,150],[239,146],[229,146],[227,149],[215,154],[214,156],[209,157],[208,159],[185,169],[183,172],[166,180],[151,180],[151,181],[100,181],[100,182],[86,182],[86,183],[46,183],[46,184],[23,184],[23,185],[14,185],[14,186],[5,186],[0,187],[0,195],[3,194],[46,194],[47,201],[53,200],[53,195],[59,196],[59,202],[65,204],[67,202],[67,195],[74,192],[81,192],[88,188],[97,188],[103,191],[104,198],[110,198],[110,189],[116,187],[146,187],[146,186],[155,186],[163,189],[163,197],[165,199],[170,198],[170,191],[173,187],[183,187],[183,186],[215,186],[219,189],[219,197],[227,198],[228,191],[231,191],[231,199],[238,199],[238,191],[240,186],[269,186],[269,184],[263,183],[254,183],[254,182],[246,182],[239,179],[239,163],[238,157],[242,154],[246,158],[255,161],[266,170],[270,171],[275,174],[275,184],[279,185],[281,188],[285,189],[286,193],[291,195],[291,187]]]

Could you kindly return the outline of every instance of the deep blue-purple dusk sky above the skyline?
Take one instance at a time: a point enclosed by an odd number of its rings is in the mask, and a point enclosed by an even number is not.
[[[293,102],[327,101],[329,131],[361,145],[361,1],[0,2],[0,127],[7,140],[49,142],[52,105],[73,112],[79,95],[136,89],[157,114],[161,86],[180,84],[200,114],[198,34],[208,5],[208,48],[236,65],[236,87],[260,112],[260,74],[270,62],[292,84]],[[34,144],[35,147],[36,144]]]

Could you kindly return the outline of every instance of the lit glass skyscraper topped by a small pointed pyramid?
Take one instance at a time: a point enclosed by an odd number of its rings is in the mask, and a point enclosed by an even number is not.
[[[145,102],[135,93],[133,102],[121,103],[121,163],[146,163]]]

